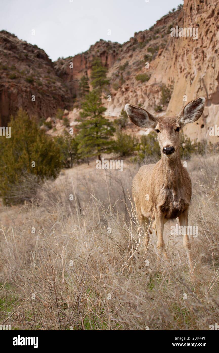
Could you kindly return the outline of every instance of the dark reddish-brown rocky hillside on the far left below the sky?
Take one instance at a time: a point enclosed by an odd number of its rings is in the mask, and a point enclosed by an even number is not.
[[[19,107],[40,119],[70,102],[70,92],[44,50],[0,31],[0,126]]]

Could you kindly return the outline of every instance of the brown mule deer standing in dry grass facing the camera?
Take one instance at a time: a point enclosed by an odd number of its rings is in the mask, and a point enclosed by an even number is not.
[[[180,226],[188,229],[188,211],[192,196],[189,174],[180,160],[180,130],[197,121],[203,113],[205,98],[189,102],[180,114],[170,117],[154,116],[143,108],[125,104],[133,124],[152,128],[157,133],[161,159],[156,164],[142,166],[133,179],[132,197],[136,216],[144,231],[144,248],[148,249],[150,233],[157,236],[157,255],[168,260],[163,241],[163,226],[168,220],[179,218]],[[186,226],[186,227],[185,227]],[[191,243],[187,231],[183,234],[192,274]]]

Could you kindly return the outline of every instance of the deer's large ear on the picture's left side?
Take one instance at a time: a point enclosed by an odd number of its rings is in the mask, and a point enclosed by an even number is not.
[[[133,124],[139,127],[152,127],[156,126],[155,117],[146,112],[146,110],[132,106],[131,104],[125,104],[125,110],[128,114],[129,119]]]

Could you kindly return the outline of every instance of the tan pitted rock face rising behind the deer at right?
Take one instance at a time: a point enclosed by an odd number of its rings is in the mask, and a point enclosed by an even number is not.
[[[198,39],[171,37],[170,28],[176,28],[177,25],[179,28],[197,29]],[[148,69],[140,68],[139,71],[137,67],[135,68],[135,62],[137,58],[142,58],[142,50],[140,49],[130,56],[128,61],[131,71],[129,78],[127,77],[125,85],[118,89],[112,97],[112,101],[108,103],[106,114],[116,116],[125,103],[131,103],[142,104],[143,108],[155,115],[174,115],[178,114],[189,101],[204,96],[206,108],[203,115],[198,122],[185,126],[184,132],[192,139],[207,138],[212,142],[218,142],[217,136],[209,135],[210,126],[214,126],[214,124],[219,126],[218,1],[206,3],[206,1],[185,0],[183,10],[176,11],[157,21],[152,31],[159,38],[149,41],[143,51],[148,54],[149,46],[159,46],[157,55],[153,58],[154,60],[149,62]],[[144,33],[136,34],[137,42],[141,43],[149,39],[150,32],[144,31]],[[162,40],[165,46],[160,48]],[[124,44],[124,47],[125,45],[127,46]],[[124,58],[121,63],[125,60]],[[115,68],[116,64],[110,68],[109,76],[113,76]],[[148,73],[150,79],[144,83],[137,82],[134,76],[136,73]],[[167,87],[172,86],[170,101],[165,105],[160,103],[162,84]],[[161,113],[155,112],[154,108],[158,105],[162,106]]]

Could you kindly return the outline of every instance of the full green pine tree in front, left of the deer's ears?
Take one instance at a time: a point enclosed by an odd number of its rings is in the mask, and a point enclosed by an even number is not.
[[[99,90],[93,90],[85,96],[82,103],[82,112],[78,119],[79,125],[76,140],[78,153],[85,157],[97,155],[101,159],[101,153],[109,153],[113,150],[114,142],[110,138],[115,132],[112,123],[102,114],[107,108],[103,107]]]

